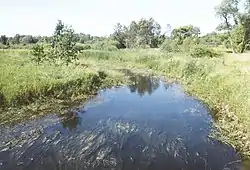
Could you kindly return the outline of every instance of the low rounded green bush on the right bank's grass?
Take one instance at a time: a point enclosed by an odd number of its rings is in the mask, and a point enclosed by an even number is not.
[[[219,57],[220,54],[214,51],[212,48],[197,45],[190,50],[190,55],[194,58],[203,58],[203,57]]]

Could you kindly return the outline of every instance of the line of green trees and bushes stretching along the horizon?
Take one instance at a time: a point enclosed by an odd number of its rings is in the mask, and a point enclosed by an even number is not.
[[[244,4],[243,7],[241,4]],[[122,48],[159,48],[164,43],[182,45],[183,43],[204,44],[206,46],[225,46],[235,53],[250,48],[250,1],[223,0],[215,7],[215,15],[221,19],[214,32],[201,36],[199,27],[186,25],[162,31],[161,25],[153,18],[142,18],[129,25],[117,23],[108,37],[72,33],[72,41],[79,50],[84,49],[122,49]],[[61,22],[61,21],[59,21]],[[60,24],[59,24],[60,25]],[[58,26],[58,23],[57,23]],[[191,39],[191,40],[190,40]],[[187,41],[188,40],[188,41]],[[0,48],[25,48],[34,44],[51,44],[53,36],[32,36],[16,34],[14,37],[0,36]]]

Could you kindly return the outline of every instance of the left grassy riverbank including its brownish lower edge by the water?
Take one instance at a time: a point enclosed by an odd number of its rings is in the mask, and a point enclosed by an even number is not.
[[[123,74],[82,63],[36,65],[26,50],[0,52],[0,125],[59,112],[123,83]]]

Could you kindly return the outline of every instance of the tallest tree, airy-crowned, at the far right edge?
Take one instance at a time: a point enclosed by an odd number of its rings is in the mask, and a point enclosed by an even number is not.
[[[228,34],[233,52],[244,52],[250,40],[249,0],[246,0],[244,4],[245,10],[241,11],[239,0],[223,0],[215,8],[216,16],[222,20],[217,29]]]

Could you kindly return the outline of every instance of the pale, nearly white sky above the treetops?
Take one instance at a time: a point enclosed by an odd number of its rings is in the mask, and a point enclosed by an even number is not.
[[[214,7],[221,0],[0,0],[0,35],[52,35],[57,20],[76,32],[105,36],[116,23],[153,17],[166,30],[192,24],[202,33],[220,23]]]

